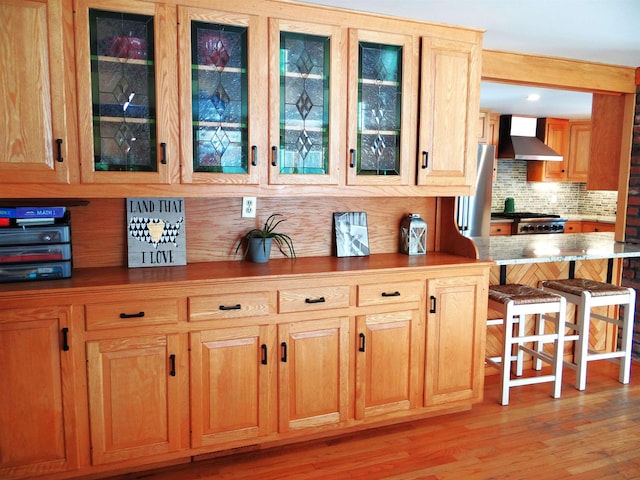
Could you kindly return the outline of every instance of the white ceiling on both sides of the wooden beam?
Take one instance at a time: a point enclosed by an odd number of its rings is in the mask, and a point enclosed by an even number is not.
[[[485,30],[483,48],[640,67],[640,0],[304,0]],[[541,94],[537,103],[529,93]],[[482,83],[481,108],[588,118],[591,95]]]

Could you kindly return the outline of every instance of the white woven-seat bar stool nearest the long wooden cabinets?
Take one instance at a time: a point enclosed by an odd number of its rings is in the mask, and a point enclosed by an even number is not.
[[[566,300],[564,297],[545,292],[528,285],[507,284],[489,287],[489,308],[502,314],[502,318],[488,320],[487,325],[504,325],[502,355],[487,357],[488,364],[501,371],[500,403],[509,404],[509,388],[532,385],[536,383],[553,382],[551,396],[560,398],[562,389],[562,352],[564,345]],[[555,318],[546,314],[555,313]],[[536,315],[540,323],[545,317],[555,323],[555,329],[550,333],[534,333],[526,335],[527,315]],[[514,326],[518,325],[514,334]],[[553,354],[542,352],[543,343],[554,342]],[[525,343],[535,343],[536,348],[525,346]],[[516,376],[522,375],[523,353],[527,352],[534,358],[551,365],[549,375],[539,375],[526,378],[511,378],[511,366],[516,362]],[[539,362],[536,362],[538,364]],[[540,369],[538,366],[537,369]]]

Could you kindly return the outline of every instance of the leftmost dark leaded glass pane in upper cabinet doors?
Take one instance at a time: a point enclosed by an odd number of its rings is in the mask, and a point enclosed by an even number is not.
[[[94,168],[155,172],[153,17],[89,10]]]

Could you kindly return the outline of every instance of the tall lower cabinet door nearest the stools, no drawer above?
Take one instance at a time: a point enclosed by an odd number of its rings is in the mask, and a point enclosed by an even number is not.
[[[487,290],[480,275],[427,281],[425,405],[482,400]]]

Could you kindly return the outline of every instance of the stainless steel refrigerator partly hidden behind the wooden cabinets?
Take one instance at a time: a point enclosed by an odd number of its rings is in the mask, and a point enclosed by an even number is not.
[[[458,197],[456,221],[465,237],[489,236],[491,229],[491,187],[496,147],[478,144],[476,194]]]

